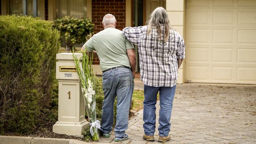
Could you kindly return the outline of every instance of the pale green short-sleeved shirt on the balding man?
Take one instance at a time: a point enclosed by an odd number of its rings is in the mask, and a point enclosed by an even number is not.
[[[83,47],[89,52],[97,52],[102,71],[116,66],[131,67],[126,50],[134,46],[124,37],[121,30],[106,28],[93,35]]]

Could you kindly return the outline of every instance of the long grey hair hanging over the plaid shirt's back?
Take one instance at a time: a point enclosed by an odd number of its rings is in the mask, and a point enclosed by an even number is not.
[[[164,26],[164,42],[169,39],[169,30],[172,29],[172,26],[167,15],[167,11],[163,7],[156,7],[156,9],[150,14],[150,19],[147,23],[148,34],[152,32],[153,28],[155,28],[158,33],[158,37],[161,39],[163,33],[161,26]]]

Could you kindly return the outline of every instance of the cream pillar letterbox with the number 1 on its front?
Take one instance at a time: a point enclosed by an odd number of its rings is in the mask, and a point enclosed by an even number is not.
[[[77,58],[82,54],[75,53]],[[85,120],[85,106],[79,76],[72,53],[56,55],[56,79],[59,82],[58,121],[52,131],[59,134],[81,135],[89,122]]]

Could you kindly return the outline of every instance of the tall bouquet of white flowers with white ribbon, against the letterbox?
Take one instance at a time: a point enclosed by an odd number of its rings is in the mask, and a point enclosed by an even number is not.
[[[90,55],[89,53],[86,53],[86,50],[80,52],[83,53],[83,56],[77,59],[73,49],[76,72],[78,73],[80,79],[80,86],[83,92],[85,109],[91,126],[90,133],[93,137],[93,141],[98,141],[100,138],[98,133],[98,129],[100,129],[100,121],[96,120],[95,79],[92,68],[93,53]],[[79,64],[80,61],[82,61],[82,66]]]

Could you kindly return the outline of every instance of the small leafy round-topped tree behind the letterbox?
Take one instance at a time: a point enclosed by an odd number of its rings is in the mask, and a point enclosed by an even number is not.
[[[86,42],[94,31],[94,24],[91,20],[70,16],[54,20],[53,27],[60,31],[61,42],[66,46],[67,52],[75,44]]]

